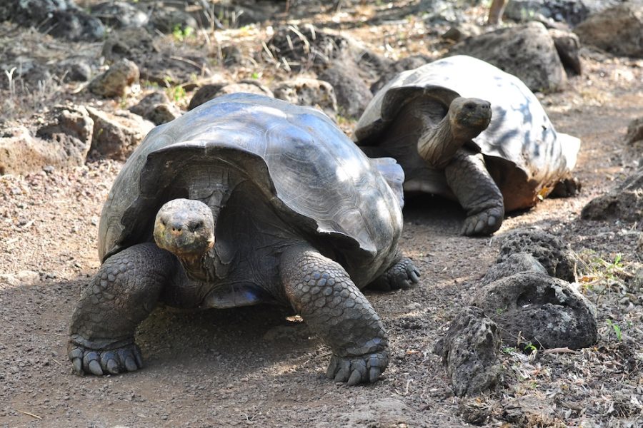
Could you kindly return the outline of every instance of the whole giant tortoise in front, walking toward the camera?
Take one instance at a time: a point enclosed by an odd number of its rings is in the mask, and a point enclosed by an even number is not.
[[[265,96],[221,96],[154,128],[104,204],[102,265],[71,319],[74,372],[142,367],[134,330],[159,302],[278,302],[329,345],[329,377],[374,382],[387,335],[360,289],[419,275],[397,245],[403,180],[323,113]]]

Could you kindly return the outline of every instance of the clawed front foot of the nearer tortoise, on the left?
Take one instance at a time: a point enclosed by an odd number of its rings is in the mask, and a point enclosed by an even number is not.
[[[110,350],[93,350],[72,344],[67,354],[75,374],[119,374],[143,367],[141,350],[135,343]]]

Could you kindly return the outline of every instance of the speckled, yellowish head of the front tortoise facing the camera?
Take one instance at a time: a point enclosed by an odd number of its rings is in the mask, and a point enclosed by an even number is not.
[[[154,240],[181,259],[200,259],[214,246],[212,211],[199,200],[170,200],[156,214]]]

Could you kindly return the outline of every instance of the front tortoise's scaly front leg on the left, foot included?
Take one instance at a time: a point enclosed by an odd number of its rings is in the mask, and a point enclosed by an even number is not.
[[[176,270],[174,257],[147,243],[105,260],[71,316],[68,356],[76,374],[134,372],[143,367],[134,330]]]

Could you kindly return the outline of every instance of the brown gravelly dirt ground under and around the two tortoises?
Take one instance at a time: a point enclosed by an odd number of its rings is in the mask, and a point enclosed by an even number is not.
[[[379,48],[374,34],[389,30],[345,31]],[[239,30],[226,31],[234,38]],[[402,250],[422,278],[413,290],[367,292],[392,350],[387,371],[368,386],[327,379],[329,349],[304,322],[269,306],[158,309],[137,333],[144,370],[71,374],[69,320],[99,267],[101,205],[121,163],[0,176],[0,427],[642,427],[643,308],[634,280],[642,225],[579,213],[639,165],[624,135],[643,115],[643,62],[589,49],[582,61],[584,76],[542,97],[557,130],[582,139],[582,192],[510,215],[492,238],[460,236],[464,214],[452,203],[409,200]],[[454,397],[434,343],[494,263],[497,238],[526,226],[560,235],[579,255],[578,286],[597,305],[599,342],[533,355],[503,344],[499,387]]]

